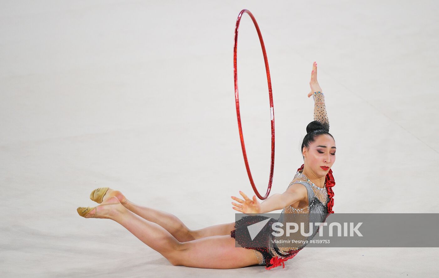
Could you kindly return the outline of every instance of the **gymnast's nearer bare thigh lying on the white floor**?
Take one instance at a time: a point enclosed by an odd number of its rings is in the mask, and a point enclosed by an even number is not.
[[[235,247],[230,235],[216,235],[187,241],[176,253],[176,265],[200,268],[230,269],[257,265],[252,249]]]

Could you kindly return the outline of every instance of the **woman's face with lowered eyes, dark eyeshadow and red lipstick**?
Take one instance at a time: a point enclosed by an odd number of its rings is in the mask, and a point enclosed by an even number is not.
[[[311,168],[317,176],[326,176],[335,162],[335,150],[334,139],[330,135],[323,134],[317,136],[316,141],[311,143],[308,149],[303,147],[302,155],[307,167]]]

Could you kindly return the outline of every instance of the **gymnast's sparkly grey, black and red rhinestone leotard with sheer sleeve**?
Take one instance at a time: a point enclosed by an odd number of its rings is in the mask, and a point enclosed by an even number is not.
[[[326,107],[324,102],[324,95],[321,92],[315,92],[313,95],[314,99],[314,121],[319,121],[324,129],[329,131],[329,120],[326,113]],[[306,177],[303,173],[303,170],[299,170],[294,179],[288,185],[290,187],[294,183],[302,184],[306,187],[308,194],[308,205],[303,208],[295,208],[292,205],[285,207],[279,219],[270,219],[265,227],[270,227],[274,222],[283,222],[285,214],[304,214],[305,218],[308,219],[309,222],[324,222],[327,216],[327,202],[328,202],[328,193],[325,186],[323,188],[317,187],[313,182],[311,182],[308,177]],[[287,188],[288,188],[287,187]],[[312,218],[312,219],[310,219]],[[265,265],[266,269],[271,269],[273,267],[277,267],[281,265],[280,262],[291,259],[294,257],[306,244],[300,245],[298,247],[277,247],[276,243],[273,243],[273,236],[271,233],[266,233],[266,238],[263,238],[264,247],[252,247],[246,244],[244,239],[237,238],[235,231],[236,230],[247,230],[247,227],[253,223],[258,223],[263,221],[264,219],[268,219],[266,216],[244,216],[242,219],[238,220],[235,223],[235,230],[230,232],[232,238],[235,238],[238,243],[247,249],[253,249],[253,252],[258,259],[259,265]],[[264,227],[264,229],[266,229]],[[308,237],[308,239],[313,238],[314,235],[318,231],[318,226],[314,226],[313,234]],[[240,234],[240,233],[238,233]]]

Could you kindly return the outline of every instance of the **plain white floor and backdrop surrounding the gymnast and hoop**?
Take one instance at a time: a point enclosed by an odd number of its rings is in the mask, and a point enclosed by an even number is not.
[[[191,229],[234,221],[252,195],[239,141],[234,27],[261,29],[273,87],[271,194],[303,159],[312,63],[337,160],[337,212],[439,212],[437,1],[1,1],[3,277],[432,276],[438,249],[308,248],[267,271],[173,266],[109,219],[97,187]],[[265,193],[270,106],[259,39],[241,19],[245,144]],[[212,258],[215,253],[212,251]],[[274,274],[273,274],[274,273]]]

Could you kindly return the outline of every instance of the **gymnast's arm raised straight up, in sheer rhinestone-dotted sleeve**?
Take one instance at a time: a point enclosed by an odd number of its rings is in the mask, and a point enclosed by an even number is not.
[[[309,81],[311,91],[308,97],[311,95],[314,99],[314,121],[319,121],[323,127],[329,132],[329,119],[326,113],[325,96],[322,93],[319,82],[317,82],[317,63],[313,63],[313,70],[311,71],[311,80]]]

